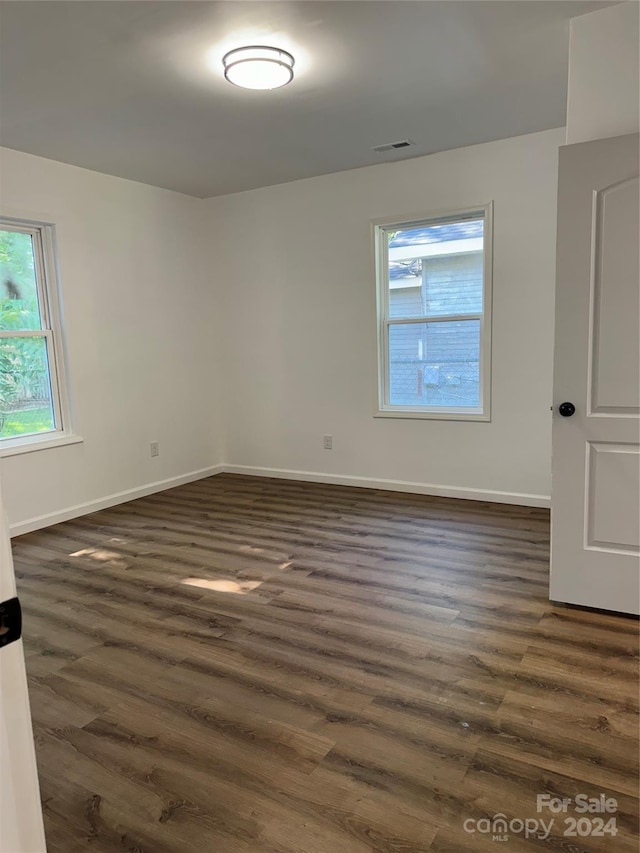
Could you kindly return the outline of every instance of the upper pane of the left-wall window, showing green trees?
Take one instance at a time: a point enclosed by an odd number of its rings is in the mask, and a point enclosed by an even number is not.
[[[0,230],[0,329],[41,328],[33,238]]]

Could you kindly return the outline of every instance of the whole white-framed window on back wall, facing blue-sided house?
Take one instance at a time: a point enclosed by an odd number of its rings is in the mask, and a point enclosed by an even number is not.
[[[489,420],[491,214],[374,223],[379,415]]]

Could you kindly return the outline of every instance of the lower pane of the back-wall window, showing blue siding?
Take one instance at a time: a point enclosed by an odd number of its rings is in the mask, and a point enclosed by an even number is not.
[[[389,403],[479,406],[479,320],[390,326]]]

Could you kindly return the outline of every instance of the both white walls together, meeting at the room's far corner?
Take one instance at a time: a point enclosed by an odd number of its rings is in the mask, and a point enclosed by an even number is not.
[[[2,460],[13,531],[223,461],[544,502],[562,142],[546,131],[206,202],[2,151],[1,212],[57,227],[84,439]],[[492,422],[374,418],[370,220],[491,199]]]

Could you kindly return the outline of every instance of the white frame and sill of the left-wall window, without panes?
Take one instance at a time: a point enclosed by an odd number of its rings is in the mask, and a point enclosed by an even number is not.
[[[62,323],[58,293],[55,226],[10,216],[0,216],[0,229],[30,234],[33,240],[34,268],[40,307],[41,328],[24,331],[0,330],[0,340],[41,337],[47,341],[51,405],[55,428],[46,432],[0,439],[0,458],[82,441],[71,430],[71,413],[62,342]]]

